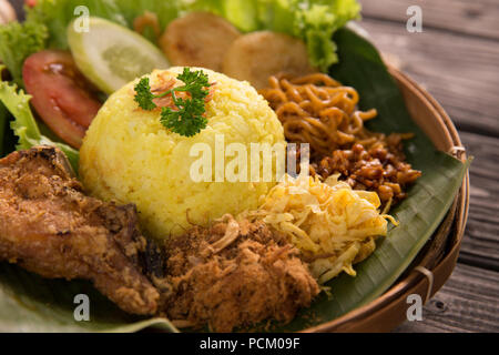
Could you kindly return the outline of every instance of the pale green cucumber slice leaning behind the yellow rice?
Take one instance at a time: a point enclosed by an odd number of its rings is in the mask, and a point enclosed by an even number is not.
[[[89,19],[89,31],[71,22],[68,42],[78,68],[108,94],[154,69],[167,69],[164,54],[142,36],[101,18]]]

